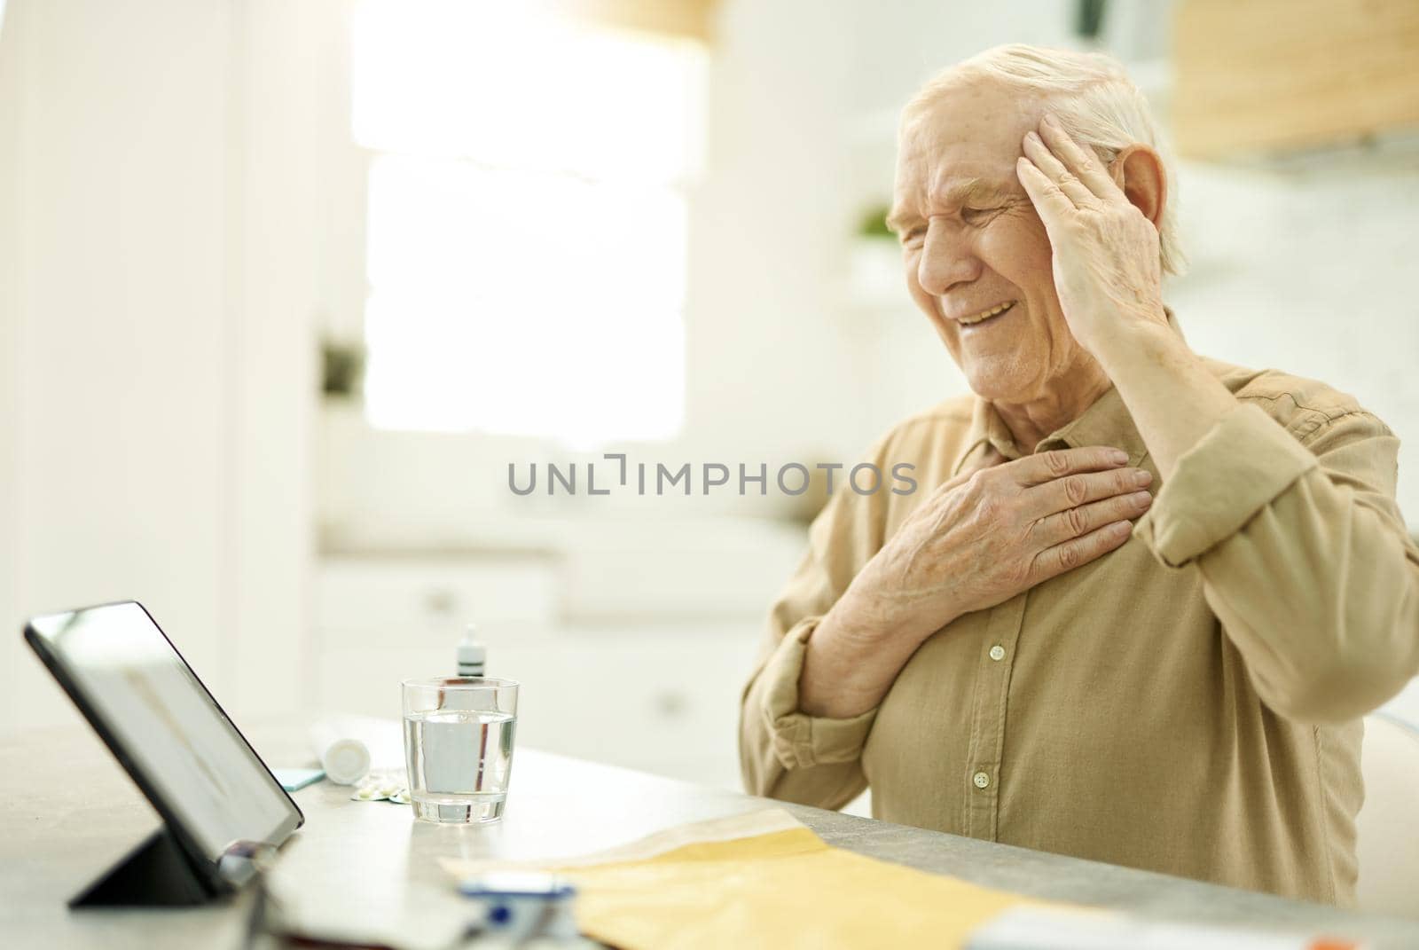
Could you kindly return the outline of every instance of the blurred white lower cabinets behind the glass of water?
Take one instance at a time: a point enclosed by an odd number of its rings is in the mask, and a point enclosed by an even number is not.
[[[556,561],[529,557],[342,557],[318,575],[321,711],[397,717],[399,680],[451,675],[475,619],[490,675],[522,683],[519,744],[738,787],[762,618],[558,622]]]

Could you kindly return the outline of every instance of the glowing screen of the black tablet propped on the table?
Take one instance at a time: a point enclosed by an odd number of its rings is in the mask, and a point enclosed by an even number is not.
[[[139,604],[30,621],[75,701],[209,861],[281,843],[301,812]],[[37,645],[43,649],[41,645]],[[58,675],[60,670],[55,670]]]

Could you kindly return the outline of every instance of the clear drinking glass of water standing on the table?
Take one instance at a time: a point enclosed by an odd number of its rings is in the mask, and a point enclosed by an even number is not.
[[[404,680],[404,763],[414,817],[446,824],[502,818],[512,772],[518,684],[455,676]]]

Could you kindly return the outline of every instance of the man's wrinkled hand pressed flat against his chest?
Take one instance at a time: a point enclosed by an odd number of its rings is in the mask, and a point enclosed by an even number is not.
[[[1152,503],[1152,476],[1125,467],[1118,449],[988,464],[939,486],[853,581],[883,628],[924,639],[1088,564],[1124,544]]]

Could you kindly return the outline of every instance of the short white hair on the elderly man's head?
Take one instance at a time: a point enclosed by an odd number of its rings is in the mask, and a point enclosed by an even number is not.
[[[1186,270],[1178,240],[1178,178],[1144,94],[1122,64],[1103,53],[1073,53],[1022,43],[999,45],[932,77],[902,109],[902,119],[924,111],[962,80],[990,78],[1009,88],[1044,94],[1050,111],[1078,142],[1111,163],[1130,145],[1147,145],[1162,158],[1168,200],[1158,222],[1158,258],[1165,274]]]

